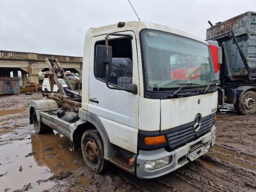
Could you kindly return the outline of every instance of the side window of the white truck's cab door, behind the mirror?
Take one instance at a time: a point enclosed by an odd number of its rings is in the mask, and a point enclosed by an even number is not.
[[[105,45],[105,40],[96,42],[97,45]],[[132,43],[129,38],[109,39],[112,47],[112,61],[109,65],[108,77],[97,77],[100,81],[108,81],[111,84],[123,88],[129,88],[132,83]]]

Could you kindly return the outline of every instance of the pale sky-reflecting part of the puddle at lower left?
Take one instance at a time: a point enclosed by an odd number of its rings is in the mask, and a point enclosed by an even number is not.
[[[33,156],[25,157],[30,152],[30,140],[15,141],[8,147],[0,147],[0,174],[4,174],[0,177],[1,191],[22,189],[29,183],[34,191],[44,191],[54,186],[54,182],[36,183],[37,180],[51,177],[52,173],[47,166],[38,166]]]

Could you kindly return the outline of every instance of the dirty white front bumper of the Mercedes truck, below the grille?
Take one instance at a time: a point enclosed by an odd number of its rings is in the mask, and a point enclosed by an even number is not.
[[[157,150],[140,150],[136,160],[137,177],[141,179],[152,179],[177,170],[190,161],[187,156],[191,152],[191,147],[195,146],[196,143],[202,142],[202,146],[207,149],[212,147],[215,143],[215,132],[216,127],[213,125],[211,132],[204,134],[197,140],[191,141],[172,152],[168,152],[164,148],[159,148]],[[172,157],[171,163],[156,170],[145,170],[144,165],[147,161],[154,161],[164,157]]]

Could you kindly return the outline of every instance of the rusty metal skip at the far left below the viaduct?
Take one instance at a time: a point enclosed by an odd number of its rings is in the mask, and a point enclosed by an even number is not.
[[[0,77],[0,95],[20,93],[19,77]]]

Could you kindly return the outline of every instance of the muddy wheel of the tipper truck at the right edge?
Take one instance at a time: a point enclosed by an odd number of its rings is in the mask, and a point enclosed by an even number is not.
[[[256,113],[256,93],[253,91],[245,92],[241,99],[236,102],[235,109],[243,115]]]

